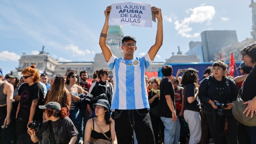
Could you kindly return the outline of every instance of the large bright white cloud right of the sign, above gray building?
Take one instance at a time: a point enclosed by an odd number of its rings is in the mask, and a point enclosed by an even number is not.
[[[189,27],[190,23],[210,23],[215,15],[215,9],[213,6],[199,6],[194,9],[190,8],[187,12],[192,12],[190,17],[186,17],[183,20],[176,20],[174,22],[175,29],[183,37],[197,37],[200,33],[189,34],[193,29]]]

